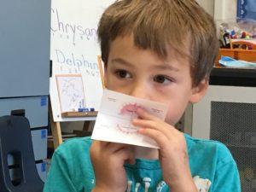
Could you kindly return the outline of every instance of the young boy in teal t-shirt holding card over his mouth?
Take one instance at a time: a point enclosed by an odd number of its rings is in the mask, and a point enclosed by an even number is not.
[[[168,104],[165,121],[142,108],[132,121],[160,149],[71,139],[55,150],[44,192],[240,191],[222,143],[174,127],[207,91],[218,52],[212,18],[194,0],[123,0],[103,13],[98,36],[109,90]]]

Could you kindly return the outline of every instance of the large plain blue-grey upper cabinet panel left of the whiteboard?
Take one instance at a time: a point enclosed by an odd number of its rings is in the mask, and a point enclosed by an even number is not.
[[[49,95],[50,0],[0,0],[0,97]]]

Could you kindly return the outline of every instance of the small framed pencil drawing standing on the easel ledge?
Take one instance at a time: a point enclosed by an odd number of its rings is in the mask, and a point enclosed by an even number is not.
[[[84,85],[79,74],[56,75],[61,113],[85,108]]]

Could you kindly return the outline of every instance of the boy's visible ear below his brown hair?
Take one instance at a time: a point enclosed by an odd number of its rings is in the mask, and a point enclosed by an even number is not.
[[[207,78],[202,79],[201,82],[192,88],[192,95],[189,98],[190,103],[199,102],[203,96],[206,95],[209,86]]]

